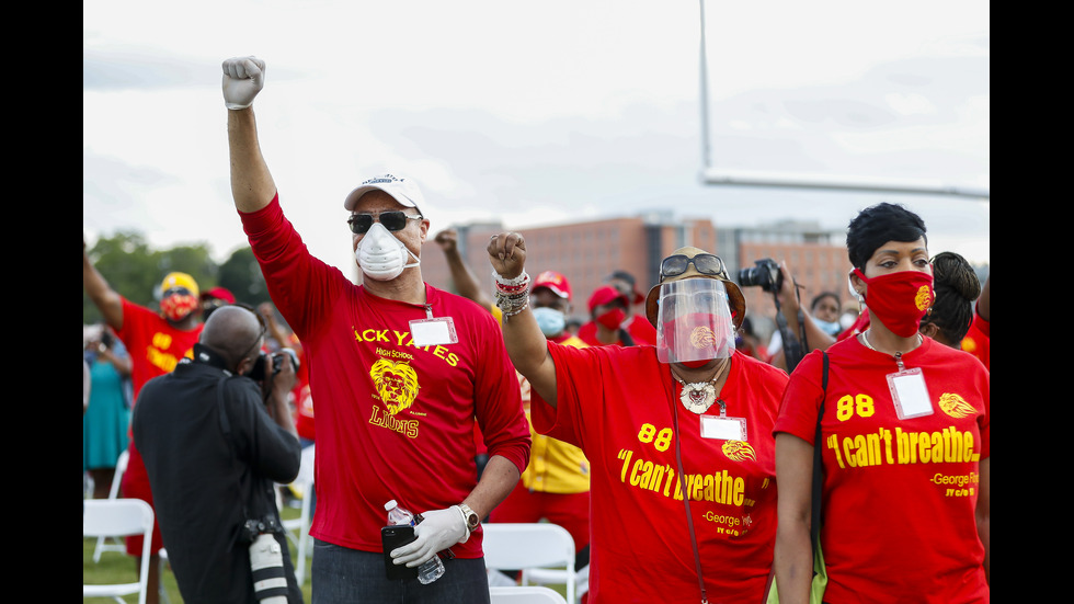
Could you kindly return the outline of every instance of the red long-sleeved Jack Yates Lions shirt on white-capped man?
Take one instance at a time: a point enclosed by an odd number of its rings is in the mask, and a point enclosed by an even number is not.
[[[309,254],[278,200],[240,214],[268,293],[302,342],[317,412],[317,514],[310,535],[380,551],[385,502],[413,511],[462,501],[477,483],[473,423],[489,455],[518,471],[529,425],[493,316],[426,286],[434,317],[450,317],[458,343],[415,346],[410,321],[425,307],[379,298]],[[481,557],[481,529],[452,547]]]

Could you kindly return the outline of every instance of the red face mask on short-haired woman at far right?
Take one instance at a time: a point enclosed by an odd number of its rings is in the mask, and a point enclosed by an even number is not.
[[[921,271],[900,271],[872,278],[855,269],[854,274],[869,286],[865,304],[881,323],[901,338],[921,329],[921,320],[933,306],[933,275]]]

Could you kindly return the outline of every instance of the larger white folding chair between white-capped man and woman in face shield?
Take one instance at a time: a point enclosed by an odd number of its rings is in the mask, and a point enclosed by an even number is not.
[[[549,522],[490,522],[481,525],[481,529],[484,532],[482,547],[488,568],[521,569],[523,586],[530,581],[527,574],[532,575],[537,570],[558,570],[559,574],[546,575],[549,579],[555,577],[555,580],[542,582],[562,583],[567,586],[567,602],[576,602],[574,539],[565,528]]]

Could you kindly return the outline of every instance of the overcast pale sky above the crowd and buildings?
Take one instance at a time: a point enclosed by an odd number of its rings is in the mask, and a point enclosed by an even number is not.
[[[221,261],[245,246],[220,64],[255,55],[267,69],[254,109],[284,209],[311,251],[349,274],[343,198],[386,171],[421,183],[434,232],[653,209],[843,229],[891,201],[925,218],[932,251],[990,261],[986,200],[704,179],[708,169],[986,192],[987,3],[709,1],[704,78],[699,7],[83,3],[83,233],[91,244],[117,229],[156,247],[207,242]]]

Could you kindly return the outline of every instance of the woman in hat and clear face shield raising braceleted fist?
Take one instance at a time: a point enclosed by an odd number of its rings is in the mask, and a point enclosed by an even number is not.
[[[590,460],[590,602],[762,601],[787,376],[734,350],[745,300],[723,262],[697,248],[664,259],[645,301],[656,345],[574,349],[534,318],[524,238],[488,251],[534,428]]]

